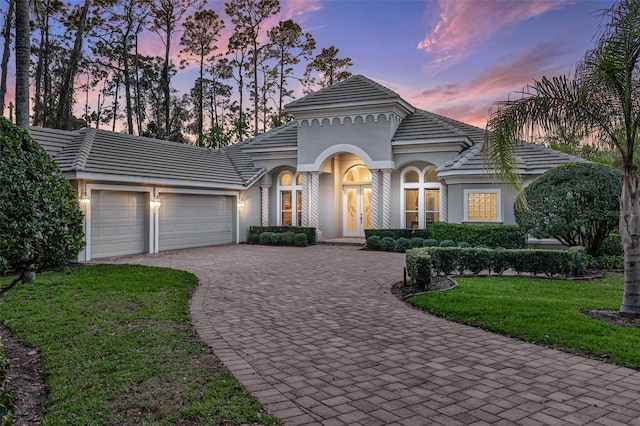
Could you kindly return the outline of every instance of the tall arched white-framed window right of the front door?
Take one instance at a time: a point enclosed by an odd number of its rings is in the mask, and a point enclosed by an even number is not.
[[[440,182],[435,168],[402,171],[402,219],[405,228],[424,228],[440,220]]]

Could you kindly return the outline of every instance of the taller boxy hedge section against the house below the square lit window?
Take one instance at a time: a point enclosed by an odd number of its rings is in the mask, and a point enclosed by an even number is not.
[[[427,226],[429,238],[466,241],[474,247],[524,248],[526,232],[516,225],[473,225],[435,222]]]

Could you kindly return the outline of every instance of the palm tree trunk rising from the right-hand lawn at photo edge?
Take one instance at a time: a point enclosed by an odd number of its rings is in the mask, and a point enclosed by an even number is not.
[[[624,247],[624,295],[620,313],[640,316],[640,194],[638,170],[628,163],[622,177],[620,236]]]

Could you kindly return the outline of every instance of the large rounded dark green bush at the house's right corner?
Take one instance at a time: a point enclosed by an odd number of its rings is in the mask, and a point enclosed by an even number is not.
[[[549,169],[525,189],[528,205],[515,209],[518,225],[536,238],[553,237],[584,246],[592,256],[618,227],[620,171],[601,164],[565,164]]]

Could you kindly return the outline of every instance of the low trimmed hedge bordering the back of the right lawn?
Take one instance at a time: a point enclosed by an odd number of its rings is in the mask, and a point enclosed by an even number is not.
[[[444,275],[455,271],[460,274],[464,271],[479,274],[483,270],[502,274],[506,269],[513,269],[518,274],[577,277],[584,274],[588,263],[584,247],[572,247],[569,250],[429,247],[411,249],[409,252],[411,256],[416,256],[415,252],[429,255],[430,270]]]

